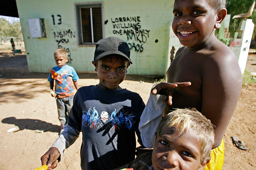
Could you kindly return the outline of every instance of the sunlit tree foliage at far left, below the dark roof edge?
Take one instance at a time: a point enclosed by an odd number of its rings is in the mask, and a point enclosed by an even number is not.
[[[22,37],[20,22],[10,23],[6,19],[0,18],[0,37]]]

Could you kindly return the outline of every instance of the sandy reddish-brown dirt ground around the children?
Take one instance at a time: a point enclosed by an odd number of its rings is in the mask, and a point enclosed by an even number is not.
[[[1,58],[1,54],[0,54]],[[256,55],[248,56],[247,69],[256,72]],[[2,61],[0,61],[2,63]],[[78,74],[79,86],[97,84],[96,74]],[[55,98],[49,92],[48,74],[1,75],[0,77],[0,170],[33,170],[40,157],[58,137]],[[143,82],[140,82],[143,81]],[[122,88],[139,93],[147,102],[152,79],[128,75]],[[223,170],[256,170],[256,84],[242,88],[235,113],[224,136]],[[8,132],[8,130],[14,130]],[[37,129],[44,129],[37,133]],[[249,148],[233,146],[231,136]],[[56,170],[81,170],[81,138],[66,151]]]

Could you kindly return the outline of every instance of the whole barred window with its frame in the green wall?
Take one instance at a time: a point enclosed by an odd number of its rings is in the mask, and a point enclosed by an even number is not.
[[[103,2],[75,3],[78,46],[93,45],[104,38]]]

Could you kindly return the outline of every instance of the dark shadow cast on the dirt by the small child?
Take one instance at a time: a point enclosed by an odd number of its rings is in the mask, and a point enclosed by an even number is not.
[[[2,119],[2,123],[14,124],[19,127],[19,130],[14,132],[18,132],[20,130],[28,129],[28,130],[37,130],[43,129],[44,132],[56,132],[59,133],[61,128],[60,126],[53,125],[52,123],[47,123],[45,121],[41,121],[38,119],[17,119],[16,117],[7,117]]]

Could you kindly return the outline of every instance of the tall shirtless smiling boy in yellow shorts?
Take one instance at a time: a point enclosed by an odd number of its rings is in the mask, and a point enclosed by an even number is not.
[[[206,168],[221,170],[223,136],[242,88],[242,74],[235,54],[214,35],[227,14],[225,0],[175,0],[173,14],[173,32],[184,47],[176,52],[166,72],[167,83],[162,82],[152,90],[152,95],[167,97],[165,105],[157,107],[150,103],[157,99],[149,98],[141,117],[147,121],[140,122],[142,142],[145,147],[153,147],[153,132],[162,116],[175,108],[194,107],[214,125],[212,149],[216,149]],[[179,87],[175,82],[185,82],[185,86]]]

